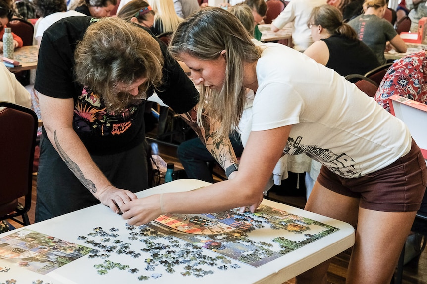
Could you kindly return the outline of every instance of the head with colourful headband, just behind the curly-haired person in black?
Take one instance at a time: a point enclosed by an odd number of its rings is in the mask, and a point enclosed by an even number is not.
[[[154,11],[149,4],[142,0],[132,0],[122,7],[117,17],[133,22],[147,29],[153,27]]]

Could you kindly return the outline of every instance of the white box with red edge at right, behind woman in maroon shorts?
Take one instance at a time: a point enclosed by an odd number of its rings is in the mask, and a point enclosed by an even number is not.
[[[406,124],[424,159],[427,159],[427,132],[424,124],[427,121],[427,105],[399,95],[392,95],[388,101],[391,114]]]

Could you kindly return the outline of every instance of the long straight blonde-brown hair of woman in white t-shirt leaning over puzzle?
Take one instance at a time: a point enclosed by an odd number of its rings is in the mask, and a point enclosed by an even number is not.
[[[225,81],[221,90],[200,86],[197,122],[202,125],[202,110],[221,122],[218,136],[228,135],[237,127],[245,104],[243,86],[245,63],[261,57],[261,48],[234,15],[224,9],[208,7],[186,18],[179,24],[169,43],[169,50],[179,59],[188,54],[201,60],[214,60],[225,50]]]

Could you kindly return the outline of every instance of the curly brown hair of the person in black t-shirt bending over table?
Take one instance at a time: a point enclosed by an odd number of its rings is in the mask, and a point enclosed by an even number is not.
[[[110,111],[122,112],[135,103],[134,96],[118,90],[119,83],[131,85],[145,78],[140,94],[161,84],[164,58],[158,41],[119,18],[106,17],[90,25],[74,58],[76,81],[99,94]]]

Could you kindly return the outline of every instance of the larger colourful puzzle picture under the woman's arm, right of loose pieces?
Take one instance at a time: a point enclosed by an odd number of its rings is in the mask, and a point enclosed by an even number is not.
[[[339,230],[265,205],[254,214],[161,215],[147,226],[255,267]]]

